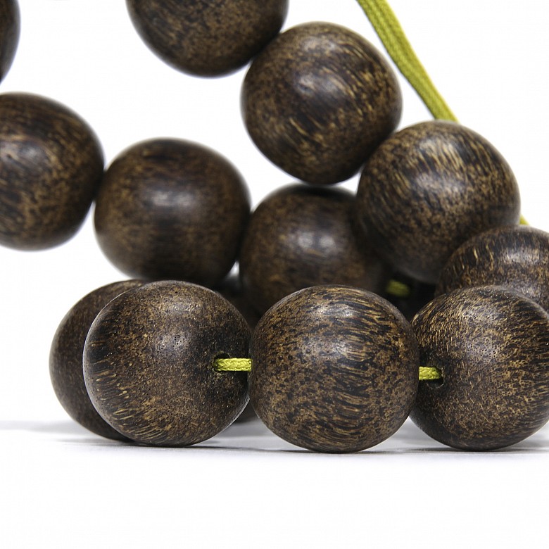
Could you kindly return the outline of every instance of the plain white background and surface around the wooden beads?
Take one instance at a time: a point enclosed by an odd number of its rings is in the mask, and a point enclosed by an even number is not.
[[[285,27],[329,20],[379,44],[353,0],[291,0]],[[549,230],[549,8],[545,0],[393,0],[465,125],[512,165],[531,225]],[[182,137],[241,170],[257,203],[292,182],[249,141],[244,70],[201,80],[164,65],[123,0],[20,0],[23,31],[0,92],[50,96],[96,130],[110,162],[141,139]],[[402,126],[429,119],[408,84]],[[357,179],[346,186],[355,189]],[[198,448],[118,446],[73,424],[51,389],[58,322],[125,278],[90,218],[50,251],[0,249],[0,545],[17,547],[546,547],[549,427],[498,453],[460,453],[406,423],[358,455],[315,455],[260,423]]]

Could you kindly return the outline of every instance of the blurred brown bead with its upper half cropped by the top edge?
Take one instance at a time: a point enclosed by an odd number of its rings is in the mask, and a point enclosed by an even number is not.
[[[172,67],[219,76],[246,65],[284,23],[288,0],[126,0],[141,39]]]

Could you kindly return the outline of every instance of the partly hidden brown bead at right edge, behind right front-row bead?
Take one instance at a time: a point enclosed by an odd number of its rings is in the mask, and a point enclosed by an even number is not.
[[[549,234],[533,227],[498,227],[452,254],[437,294],[464,286],[507,286],[549,310]]]

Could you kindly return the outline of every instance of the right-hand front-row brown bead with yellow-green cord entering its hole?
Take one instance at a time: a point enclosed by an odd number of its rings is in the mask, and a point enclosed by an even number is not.
[[[549,419],[549,315],[500,286],[457,289],[412,322],[421,364],[443,382],[422,381],[412,420],[443,444],[466,450],[510,446]]]

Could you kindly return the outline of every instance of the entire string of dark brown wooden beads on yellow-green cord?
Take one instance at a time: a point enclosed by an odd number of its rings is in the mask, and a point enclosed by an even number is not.
[[[396,78],[357,34],[310,23],[276,36],[286,1],[210,4],[168,13],[159,1],[127,1],[141,37],[179,70],[226,74],[257,54],[242,92],[255,144],[317,186],[365,164],[358,194],[294,185],[248,220],[246,185],[214,151],[146,141],[103,175],[99,141],[75,113],[0,96],[1,244],[61,244],[95,198],[101,248],[137,278],[92,292],[61,322],[50,372],[65,409],[102,436],[161,446],[225,429],[248,388],[274,433],[324,452],[370,448],[410,414],[436,440],[471,450],[540,429],[549,239],[517,227],[517,183],[503,157],[455,122],[393,133]],[[389,6],[360,4],[399,68],[413,67],[435,117],[455,120]],[[243,14],[255,23],[239,25]],[[17,42],[15,1],[0,1],[0,15],[1,77]],[[203,287],[227,290],[236,258],[241,288],[225,294],[246,320]],[[406,302],[411,324],[377,295],[402,281],[420,301]]]

